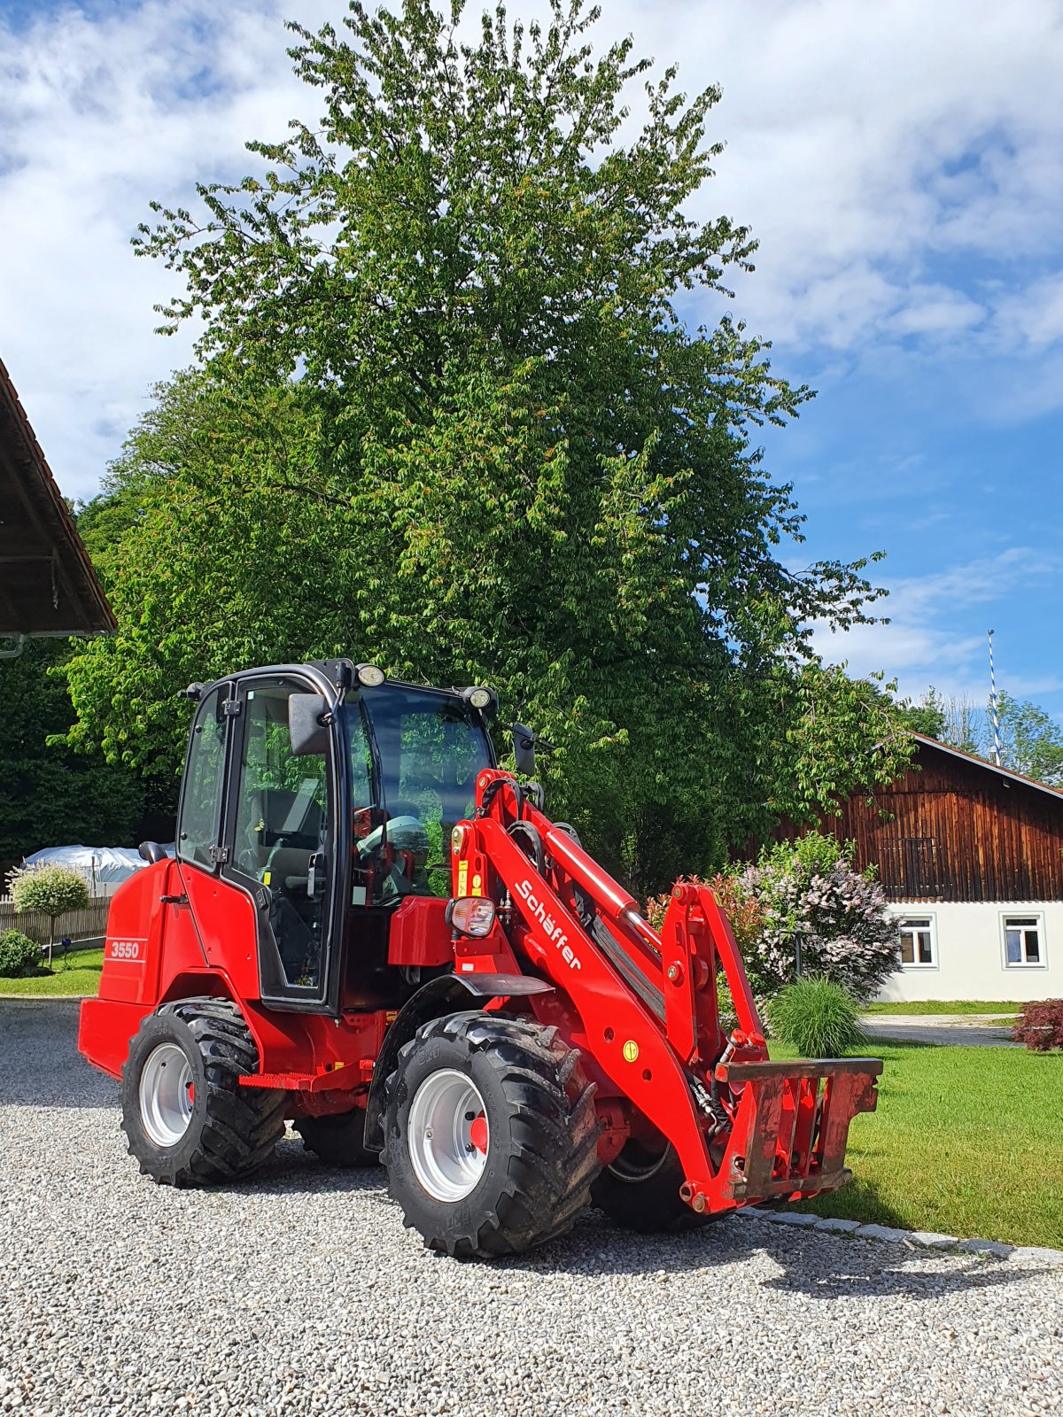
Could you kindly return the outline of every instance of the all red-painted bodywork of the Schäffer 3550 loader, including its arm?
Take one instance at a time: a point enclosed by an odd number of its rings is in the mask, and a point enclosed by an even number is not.
[[[391,920],[388,964],[449,966],[479,1006],[556,1024],[597,1084],[602,1162],[628,1138],[651,1146],[666,1138],[686,1178],[682,1196],[697,1212],[843,1185],[849,1124],[874,1110],[882,1063],[770,1061],[712,891],[677,884],[658,934],[513,778],[485,769],[476,791],[476,815],[454,832],[452,884],[455,894],[499,903],[492,932],[454,938],[444,901],[408,897]],[[730,1037],[717,1010],[720,971],[738,1017]],[[526,976],[520,990],[514,976]],[[101,996],[82,1006],[79,1047],[118,1077],[146,1015],[204,995],[238,1003],[259,1053],[244,1083],[285,1088],[291,1115],[369,1101],[395,1012],[344,1006],[337,1027],[330,1016],[262,1003],[251,900],[197,867],[160,862],[113,898]]]

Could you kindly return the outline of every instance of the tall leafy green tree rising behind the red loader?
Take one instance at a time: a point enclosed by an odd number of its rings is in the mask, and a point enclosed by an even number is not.
[[[809,639],[877,592],[863,561],[780,551],[801,517],[753,438],[809,391],[741,324],[676,309],[754,251],[685,214],[717,91],[687,101],[666,72],[621,140],[649,62],[629,40],[595,58],[597,10],[499,9],[469,45],[461,10],[293,26],[322,123],[142,228],[184,281],[164,327],[203,320],[203,368],[112,472],[120,631],[71,665],[74,737],[171,778],[187,679],[353,652],[488,682],[557,744],[554,805],[645,888],[781,803],[896,775],[904,735],[862,720]],[[814,686],[815,767],[795,727]]]

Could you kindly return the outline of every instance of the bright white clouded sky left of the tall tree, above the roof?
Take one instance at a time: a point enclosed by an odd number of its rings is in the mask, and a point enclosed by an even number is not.
[[[95,490],[149,387],[191,357],[191,330],[152,333],[174,283],[129,245],[149,201],[242,174],[244,142],[308,108],[283,10],[147,0],[0,26],[0,356],[68,495]]]

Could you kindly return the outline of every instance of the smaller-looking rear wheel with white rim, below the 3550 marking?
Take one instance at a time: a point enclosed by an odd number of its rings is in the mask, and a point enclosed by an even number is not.
[[[145,1019],[122,1068],[122,1128],[142,1175],[213,1186],[268,1161],[288,1094],[240,1085],[257,1071],[255,1040],[227,999],[183,999]]]

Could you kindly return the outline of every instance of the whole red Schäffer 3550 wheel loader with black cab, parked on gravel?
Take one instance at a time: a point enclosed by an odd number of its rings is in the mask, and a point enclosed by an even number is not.
[[[244,1178],[291,1119],[323,1162],[381,1161],[407,1226],[459,1258],[591,1200],[669,1230],[848,1179],[882,1064],[768,1061],[713,894],[677,884],[652,930],[497,769],[490,690],[340,659],[186,693],[176,859],[142,846],[81,1013],[142,1172]],[[523,778],[536,740],[513,731]]]

